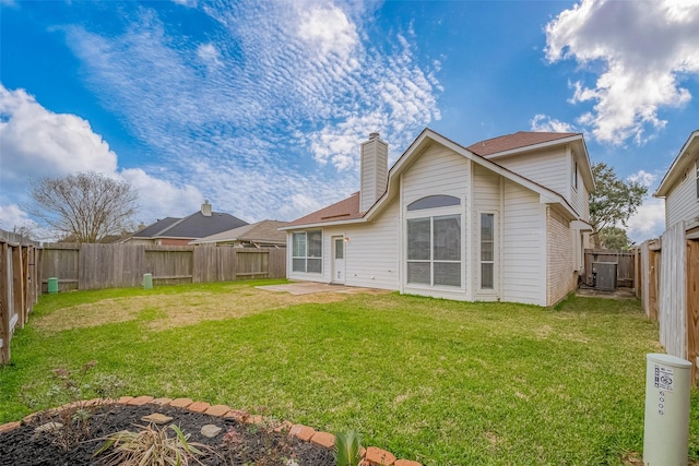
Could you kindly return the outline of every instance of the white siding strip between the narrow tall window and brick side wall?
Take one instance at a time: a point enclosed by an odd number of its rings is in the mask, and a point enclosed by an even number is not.
[[[505,182],[502,300],[546,306],[546,206],[538,194]]]

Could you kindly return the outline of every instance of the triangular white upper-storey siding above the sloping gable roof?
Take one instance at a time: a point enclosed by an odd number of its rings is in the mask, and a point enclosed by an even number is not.
[[[493,162],[555,191],[570,202],[571,160],[565,147],[494,158]]]

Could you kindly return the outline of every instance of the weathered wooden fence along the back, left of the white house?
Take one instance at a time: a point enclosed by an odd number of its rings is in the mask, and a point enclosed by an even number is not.
[[[284,278],[284,249],[209,246],[44,244],[44,290],[49,277],[60,291],[141,286],[143,274],[153,284]]]

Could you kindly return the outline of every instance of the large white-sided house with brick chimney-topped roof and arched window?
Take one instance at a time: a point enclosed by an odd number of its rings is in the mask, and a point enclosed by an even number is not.
[[[360,191],[283,228],[288,278],[540,306],[576,289],[594,190],[582,134],[464,147],[426,129],[390,170],[378,133],[360,151]]]

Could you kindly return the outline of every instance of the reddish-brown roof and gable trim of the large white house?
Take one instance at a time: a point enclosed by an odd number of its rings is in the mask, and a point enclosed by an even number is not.
[[[516,134],[519,134],[519,133],[516,133]],[[524,134],[530,134],[530,133],[524,133]],[[545,141],[540,141],[538,143],[564,140],[566,138],[571,138],[571,136],[574,136],[576,140],[582,139],[582,135],[579,133],[542,133],[542,134],[545,135],[544,138],[542,138],[542,140],[545,140]],[[555,134],[562,134],[562,136],[556,139]],[[508,138],[508,136],[502,136],[502,138]],[[496,138],[496,139],[499,139],[499,138]],[[510,140],[508,144],[511,145],[513,144],[512,141],[519,140],[521,141],[521,143],[526,144],[524,147],[528,147],[529,145],[531,145],[531,141],[535,139],[536,138],[518,138],[514,140]],[[371,206],[371,208],[369,208],[368,212],[359,212],[359,193],[357,192],[343,201],[340,201],[328,207],[321,208],[320,211],[310,213],[304,217],[297,218],[291,222],[286,227],[282,229],[283,230],[293,229],[298,226],[308,227],[308,226],[328,225],[328,224],[360,223],[360,222],[368,222],[372,219],[374,216],[376,216],[381,211],[382,206],[388,202],[387,200],[391,198],[392,194],[398,192],[396,182],[393,181],[393,179],[399,177],[400,174],[410,166],[411,164],[410,160],[412,159],[413,154],[419,154],[422,152],[422,148],[430,144],[433,141],[451,148],[458,154],[461,154],[474,160],[478,165],[482,165],[497,172],[498,175],[501,175],[502,177],[510,179],[511,181],[514,181],[521,186],[524,186],[528,189],[531,189],[534,192],[537,192],[543,202],[560,204],[564,207],[564,210],[566,210],[570,214],[572,218],[577,218],[578,220],[581,220],[581,218],[576,214],[574,210],[568,203],[568,201],[566,201],[566,199],[560,194],[558,194],[557,192],[535,181],[532,181],[521,175],[518,175],[514,171],[511,171],[496,164],[495,162],[485,158],[479,154],[474,154],[472,151],[469,151],[466,147],[442,136],[441,134],[430,130],[429,128],[426,128],[415,139],[415,141],[413,141],[413,143],[403,153],[403,155],[399,157],[395,164],[393,164],[393,166],[389,170],[389,182],[388,182],[388,188],[386,190],[386,193],[381,198],[379,198],[379,200]],[[559,141],[559,142],[562,142],[562,141]],[[503,144],[501,146],[503,146]]]

